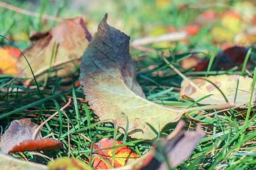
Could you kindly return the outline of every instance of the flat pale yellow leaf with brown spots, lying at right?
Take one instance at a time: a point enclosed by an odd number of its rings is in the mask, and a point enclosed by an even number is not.
[[[206,80],[205,80],[206,79]],[[206,78],[191,79],[195,86],[191,86],[186,80],[181,83],[180,95],[181,97],[189,97],[193,100],[199,100],[204,96],[213,94],[201,100],[200,104],[221,104],[226,100],[221,92],[212,84],[214,83],[224,93],[230,103],[234,102],[236,94],[237,81],[239,79],[239,86],[237,91],[236,106],[249,104],[250,91],[253,79],[247,76],[240,75],[216,75],[208,76]],[[208,82],[209,80],[210,82]]]

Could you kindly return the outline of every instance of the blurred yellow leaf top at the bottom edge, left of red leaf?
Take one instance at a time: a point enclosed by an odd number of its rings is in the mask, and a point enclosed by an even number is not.
[[[57,158],[47,165],[49,170],[92,170],[92,168],[81,162],[79,159],[71,159],[68,157]]]

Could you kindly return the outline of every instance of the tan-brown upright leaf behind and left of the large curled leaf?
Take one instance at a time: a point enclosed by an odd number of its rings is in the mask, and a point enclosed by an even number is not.
[[[75,65],[79,65],[79,61],[76,61],[76,59],[82,56],[82,53],[89,43],[85,38],[85,30],[82,28],[80,21],[81,18],[64,19],[63,23],[53,27],[51,31],[49,31],[49,35],[36,41],[24,50],[23,54],[28,59],[28,62],[30,62],[35,75],[48,70],[55,42],[55,53],[51,67],[52,70],[63,69],[54,71],[54,73],[51,74],[52,76],[68,75],[75,69]],[[36,58],[37,56],[38,58]],[[18,73],[27,66],[26,59],[20,56],[16,63]],[[32,77],[30,68],[27,67],[19,76],[22,78]],[[44,76],[39,76],[38,79],[40,80],[42,78],[44,78]]]

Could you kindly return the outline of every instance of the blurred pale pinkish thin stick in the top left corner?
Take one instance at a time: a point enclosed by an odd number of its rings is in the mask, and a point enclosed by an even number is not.
[[[9,4],[5,3],[5,2],[0,2],[0,6],[3,7],[3,8],[6,8],[6,9],[12,10],[12,11],[18,12],[20,14],[29,15],[29,16],[35,16],[37,18],[40,17],[40,14],[38,14],[36,12],[23,10],[22,8],[18,8],[18,7],[9,5]],[[49,15],[45,15],[45,14],[42,15],[42,18],[43,19],[48,19],[48,20],[54,20],[56,22],[63,22],[62,18],[57,18],[55,16],[49,16]]]

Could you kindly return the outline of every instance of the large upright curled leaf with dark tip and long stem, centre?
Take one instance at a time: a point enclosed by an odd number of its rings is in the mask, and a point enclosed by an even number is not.
[[[185,112],[214,108],[172,109],[146,100],[129,54],[130,38],[106,24],[106,19],[86,48],[80,68],[82,89],[100,120],[114,120],[123,133],[127,116],[131,137],[152,139],[156,134],[146,123],[160,131]]]

